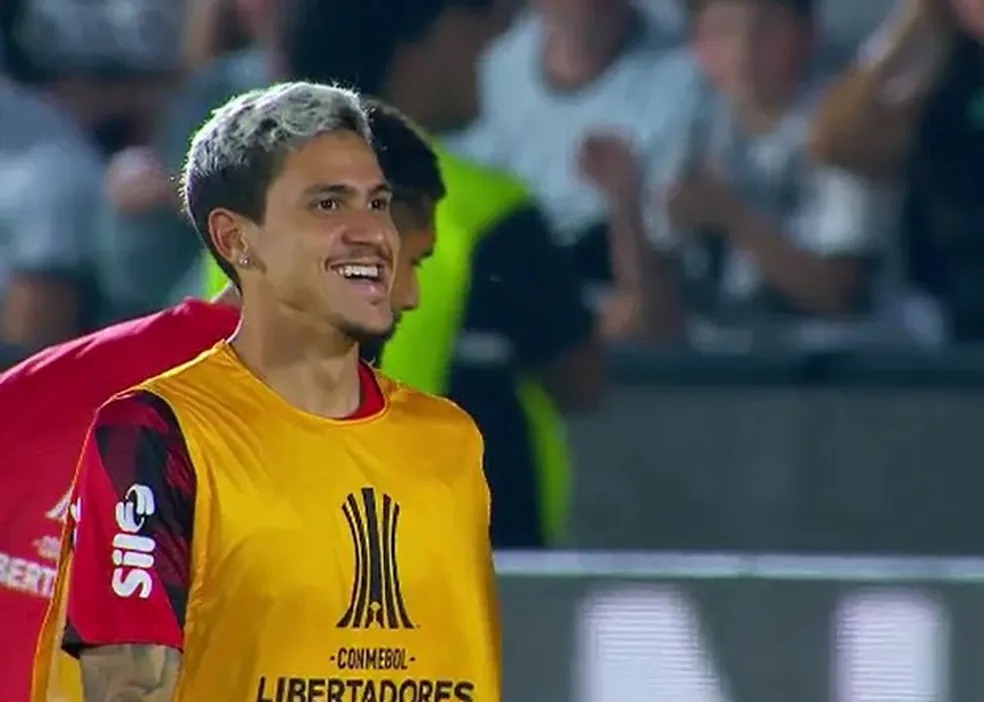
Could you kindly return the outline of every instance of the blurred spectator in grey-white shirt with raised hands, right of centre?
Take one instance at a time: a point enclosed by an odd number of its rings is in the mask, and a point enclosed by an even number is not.
[[[642,216],[623,217],[632,226],[612,229],[622,253],[609,333],[667,338],[687,329],[697,343],[716,336],[733,346],[760,333],[802,335],[820,328],[818,318],[857,317],[872,303],[891,201],[807,153],[830,75],[815,60],[813,0],[690,5],[707,87],[675,134],[675,153],[645,164],[645,188],[624,175],[634,156],[613,137],[594,140],[584,164],[615,209],[627,201],[650,210],[645,226]],[[622,177],[606,174],[613,169]]]

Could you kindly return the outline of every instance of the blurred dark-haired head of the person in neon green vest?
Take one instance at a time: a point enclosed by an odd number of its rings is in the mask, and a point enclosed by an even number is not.
[[[292,78],[384,97],[428,129],[478,115],[478,60],[502,29],[497,0],[284,0],[280,51]]]

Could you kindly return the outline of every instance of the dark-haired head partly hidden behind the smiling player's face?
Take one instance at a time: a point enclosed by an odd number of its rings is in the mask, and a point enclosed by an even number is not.
[[[400,315],[420,304],[417,268],[434,250],[434,211],[446,191],[437,154],[420,129],[378,100],[366,101],[366,110],[376,158],[393,188],[390,214],[400,235],[392,293],[398,323]]]

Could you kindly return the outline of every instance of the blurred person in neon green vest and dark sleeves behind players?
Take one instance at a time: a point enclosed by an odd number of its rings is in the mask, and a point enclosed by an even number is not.
[[[499,0],[286,0],[280,53],[292,79],[378,95],[432,134],[478,113],[477,62],[505,26]],[[448,194],[438,245],[419,270],[421,305],[382,353],[383,372],[443,394],[485,438],[496,547],[563,537],[569,461],[559,411],[592,407],[604,384],[594,320],[566,252],[513,177],[435,146]]]

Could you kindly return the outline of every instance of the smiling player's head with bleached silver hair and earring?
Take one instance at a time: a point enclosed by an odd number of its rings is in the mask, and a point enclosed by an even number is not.
[[[355,93],[310,83],[241,95],[194,136],[185,208],[244,315],[342,342],[390,329],[399,240],[370,142]]]

